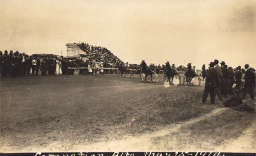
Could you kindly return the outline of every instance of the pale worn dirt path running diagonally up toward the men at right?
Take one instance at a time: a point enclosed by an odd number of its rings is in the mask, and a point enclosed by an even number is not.
[[[86,146],[77,146],[75,149],[72,149],[73,151],[77,151],[80,149],[86,149],[86,151],[167,151],[166,149],[159,149],[152,141],[154,139],[157,139],[157,137],[164,137],[169,135],[173,132],[179,132],[179,129],[182,126],[186,126],[189,124],[196,124],[197,122],[204,120],[206,118],[209,118],[211,116],[219,115],[223,112],[225,112],[225,108],[215,109],[212,112],[200,116],[195,119],[191,119],[179,124],[174,125],[168,125],[166,128],[157,131],[155,133],[150,134],[143,134],[141,136],[135,136],[135,137],[127,137],[123,140],[117,140],[113,142],[101,142],[101,143],[95,143],[91,145]],[[175,136],[173,136],[175,137]],[[170,144],[169,146],[172,146]],[[100,148],[99,148],[100,147]],[[195,147],[190,147],[190,149],[177,149],[177,150],[188,150],[188,151],[194,151]],[[198,149],[199,150],[199,149]],[[196,151],[198,151],[196,150]]]

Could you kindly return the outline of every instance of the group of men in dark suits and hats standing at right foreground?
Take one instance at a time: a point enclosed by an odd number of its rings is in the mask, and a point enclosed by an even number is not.
[[[215,97],[223,102],[223,97],[227,98],[227,94],[233,94],[233,85],[236,84],[235,89],[242,91],[242,98],[249,93],[251,99],[255,97],[255,70],[245,65],[245,69],[238,66],[235,72],[232,67],[228,67],[224,61],[219,66],[219,60],[215,59],[210,62],[209,70],[206,75],[206,83],[202,96],[202,103],[206,103],[207,97],[210,93],[211,104],[215,104]],[[243,81],[244,84],[243,84]]]

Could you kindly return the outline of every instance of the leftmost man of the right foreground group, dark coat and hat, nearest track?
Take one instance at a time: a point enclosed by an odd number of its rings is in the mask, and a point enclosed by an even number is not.
[[[215,96],[216,96],[215,89],[220,87],[218,72],[214,68],[214,62],[211,62],[209,65],[210,65],[210,69],[206,75],[205,89],[203,91],[203,96],[202,96],[202,103],[204,104],[206,103],[209,93],[211,97],[211,104],[215,103]]]

